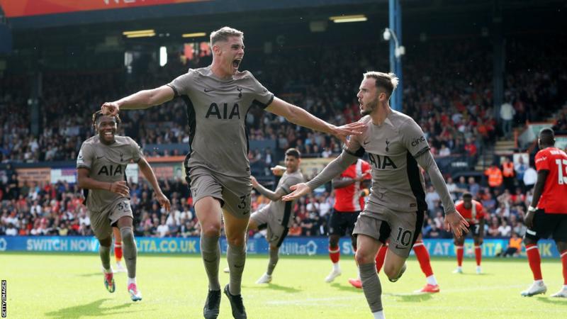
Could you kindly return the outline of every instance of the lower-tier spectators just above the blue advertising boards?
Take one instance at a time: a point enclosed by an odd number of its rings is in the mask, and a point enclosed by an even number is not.
[[[481,186],[474,177],[447,179],[447,186],[457,201],[464,192],[471,192],[487,212],[486,237],[522,236],[526,230],[524,214],[532,198],[532,186],[527,175],[533,173],[515,168],[515,179],[509,188],[502,181],[498,186]],[[533,170],[529,168],[528,170]],[[524,171],[524,172],[522,172]],[[525,173],[527,172],[527,174]],[[90,220],[82,204],[82,192],[74,184],[26,183],[18,186],[16,172],[2,176],[0,188],[0,235],[92,235]],[[525,182],[524,182],[525,181]],[[130,203],[135,212],[136,235],[152,237],[186,237],[199,235],[200,229],[192,206],[192,198],[184,181],[179,178],[160,181],[164,194],[172,202],[167,213],[159,207],[146,181],[130,183]],[[426,238],[449,238],[443,228],[439,194],[429,186],[425,196],[429,211],[422,229]],[[327,218],[335,197],[333,191],[323,191],[300,198],[293,208],[295,223],[289,235],[325,236]],[[262,208],[269,199],[252,196],[252,210]],[[250,234],[254,235],[254,234]]]

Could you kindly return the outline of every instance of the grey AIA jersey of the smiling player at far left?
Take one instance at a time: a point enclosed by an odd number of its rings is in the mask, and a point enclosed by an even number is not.
[[[99,135],[84,141],[77,157],[77,169],[89,169],[89,177],[97,181],[125,181],[126,166],[132,161],[140,161],[142,152],[140,146],[127,136],[116,135],[115,141],[111,145],[105,145]],[[105,211],[120,198],[124,197],[108,190],[89,189],[86,207],[91,212]]]

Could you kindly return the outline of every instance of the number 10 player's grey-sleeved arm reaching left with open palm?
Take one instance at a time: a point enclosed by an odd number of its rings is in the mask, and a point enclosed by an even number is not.
[[[357,162],[357,159],[364,155],[364,150],[361,154],[354,154],[349,150],[343,150],[339,157],[330,162],[317,176],[307,183],[300,183],[291,186],[292,192],[281,198],[282,201],[293,201],[301,196],[309,194],[313,189],[318,188],[327,181],[330,181],[338,174],[341,174],[344,169],[347,169],[352,163]]]

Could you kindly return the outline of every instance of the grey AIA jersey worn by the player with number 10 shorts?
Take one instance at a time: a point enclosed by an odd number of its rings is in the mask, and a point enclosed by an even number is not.
[[[425,211],[425,181],[415,157],[430,150],[423,130],[409,116],[392,111],[381,125],[370,116],[361,119],[367,128],[353,135],[347,152],[369,155],[372,187],[369,206],[396,211]]]

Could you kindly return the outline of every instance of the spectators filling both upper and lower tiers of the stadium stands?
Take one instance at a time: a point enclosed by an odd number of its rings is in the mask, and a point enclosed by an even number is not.
[[[382,49],[386,47],[383,46]],[[504,123],[509,121],[510,114],[512,126],[523,126],[526,121],[549,115],[542,113],[541,103],[549,105],[549,109],[565,103],[567,68],[561,67],[567,65],[564,57],[529,59],[541,53],[534,50],[534,45],[517,40],[511,41],[513,50],[510,50],[510,68],[505,77],[505,101],[512,109],[507,114],[495,112],[492,62],[486,53],[490,52],[489,46],[485,40],[432,40],[408,46],[404,62],[403,111],[422,126],[434,155],[462,154],[472,159],[469,163],[476,163],[476,157],[486,146],[508,133]],[[547,46],[542,44],[540,47]],[[282,50],[259,56],[249,62],[249,67],[243,67],[251,69],[259,81],[278,96],[330,123],[342,125],[359,119],[355,95],[361,74],[366,69],[387,69],[386,60],[381,65],[371,62],[379,48],[368,46],[354,50],[343,46],[318,53],[303,49]],[[147,76],[128,77],[121,71],[46,73],[38,115],[40,133],[37,135],[32,134],[29,125],[32,115],[28,111],[30,89],[26,78],[4,77],[0,80],[0,87],[4,89],[0,92],[0,104],[7,111],[0,113],[1,162],[73,161],[82,141],[94,134],[91,113],[102,101],[166,84],[183,73],[180,70],[208,64],[201,61],[195,65],[181,65],[177,59],[169,60],[167,67],[150,68]],[[534,60],[539,65],[529,65]],[[77,83],[82,85],[77,86]],[[134,138],[142,147],[187,143],[189,129],[184,113],[181,99],[145,111],[122,112],[120,133]],[[566,116],[567,109],[563,109],[556,121],[559,130],[567,130]],[[288,147],[298,148],[304,157],[329,157],[341,149],[335,138],[299,128],[260,109],[252,109],[246,121],[250,140],[276,141],[274,152],[269,148],[250,150],[252,166],[265,168],[276,164]],[[145,153],[150,156],[182,155],[156,149],[145,149]],[[464,191],[470,191],[483,203],[489,215],[485,224],[487,237],[510,237],[512,233],[523,235],[525,231],[522,220],[532,197],[530,184],[522,179],[526,170],[527,166],[517,167],[512,184],[501,183],[499,186],[485,185],[484,179],[474,177],[460,177],[457,181],[449,177],[447,181],[454,199],[459,199]],[[270,174],[269,169],[265,172]],[[172,201],[170,213],[159,208],[147,184],[131,184],[131,203],[137,212],[137,235],[198,235],[199,225],[184,182],[181,179],[160,182],[164,194]],[[424,237],[450,237],[441,227],[439,195],[431,189],[426,198],[430,210],[423,228]],[[0,235],[92,235],[81,191],[75,185],[59,182],[18,186],[16,171],[8,165],[0,175],[0,199]],[[289,235],[326,235],[327,216],[333,201],[330,190],[301,198],[294,208],[296,223]],[[257,209],[268,200],[254,195],[252,202],[253,209]]]

